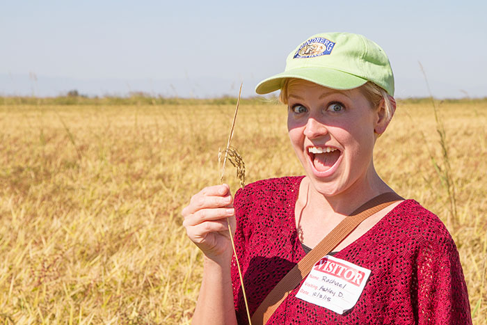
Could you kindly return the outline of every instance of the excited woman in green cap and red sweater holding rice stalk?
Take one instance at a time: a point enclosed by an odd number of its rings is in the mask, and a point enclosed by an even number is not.
[[[376,139],[395,110],[394,79],[381,47],[351,33],[313,35],[289,54],[285,72],[262,81],[256,91],[278,89],[289,108],[289,138],[305,176],[249,184],[234,200],[227,185],[207,187],[191,198],[182,212],[184,226],[205,255],[195,324],[248,322],[227,217],[232,230],[237,228],[234,239],[252,315],[340,221],[372,198],[393,192],[372,159]],[[345,292],[329,274],[320,280],[337,290],[314,288],[315,295],[321,289],[325,302],[310,302],[298,294],[301,287],[313,286],[305,278],[268,324],[472,322],[452,237],[414,200],[398,200],[372,214],[329,255],[336,265],[363,268],[360,277],[369,271],[362,289],[353,289],[356,303],[341,312],[327,305],[326,299],[333,302]]]

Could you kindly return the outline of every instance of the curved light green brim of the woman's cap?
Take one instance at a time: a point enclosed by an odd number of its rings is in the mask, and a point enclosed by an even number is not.
[[[367,82],[367,79],[330,68],[299,68],[264,79],[255,87],[255,93],[264,95],[279,90],[285,79],[288,78],[304,79],[314,82],[314,84],[340,90],[357,88]]]

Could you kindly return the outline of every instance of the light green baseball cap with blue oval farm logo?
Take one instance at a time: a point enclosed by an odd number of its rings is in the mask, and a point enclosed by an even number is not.
[[[263,95],[279,90],[287,78],[341,90],[372,81],[394,96],[394,75],[388,56],[372,40],[353,33],[312,35],[289,53],[284,72],[261,81],[255,92]]]

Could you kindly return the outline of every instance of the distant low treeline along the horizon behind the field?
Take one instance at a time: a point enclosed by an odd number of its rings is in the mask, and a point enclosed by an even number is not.
[[[425,104],[431,103],[431,98],[408,98],[397,100],[399,103]],[[452,100],[436,100],[448,103],[486,103],[484,98],[462,98]],[[277,97],[250,97],[242,98],[241,104],[276,104]],[[177,97],[151,97],[147,95],[130,95],[127,97],[88,97],[83,95],[66,95],[58,97],[19,97],[0,96],[0,105],[184,105],[184,104],[221,104],[235,105],[237,97],[217,97],[211,99],[191,99]]]

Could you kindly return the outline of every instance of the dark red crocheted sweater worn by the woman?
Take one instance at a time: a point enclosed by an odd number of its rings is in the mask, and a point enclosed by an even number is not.
[[[237,191],[234,237],[250,315],[304,257],[294,208],[303,177],[248,184]],[[267,324],[472,324],[458,251],[445,225],[414,200],[394,207],[334,257],[371,270],[360,299],[344,315],[296,298],[299,285]],[[302,284],[302,283],[301,283]],[[239,324],[248,324],[232,260]]]

